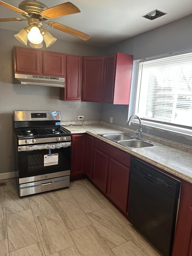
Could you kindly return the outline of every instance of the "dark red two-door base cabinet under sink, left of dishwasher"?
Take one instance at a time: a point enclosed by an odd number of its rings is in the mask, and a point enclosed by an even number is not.
[[[92,182],[127,215],[131,155],[101,140],[94,140]]]

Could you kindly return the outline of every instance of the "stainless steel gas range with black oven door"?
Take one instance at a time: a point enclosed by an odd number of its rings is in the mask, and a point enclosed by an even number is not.
[[[14,111],[19,196],[69,186],[71,134],[60,111]]]

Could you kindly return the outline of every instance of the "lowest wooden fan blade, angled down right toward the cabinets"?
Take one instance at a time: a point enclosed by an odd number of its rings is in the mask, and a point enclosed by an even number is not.
[[[70,34],[70,35],[73,35],[73,36],[76,36],[84,41],[88,40],[91,36],[90,35],[87,35],[83,32],[80,32],[79,30],[76,30],[76,29],[72,29],[70,27],[67,27],[65,25],[62,25],[60,23],[57,23],[57,22],[54,22],[54,21],[49,21],[48,22],[48,25],[54,29],[58,29],[62,32],[65,32],[67,34]]]

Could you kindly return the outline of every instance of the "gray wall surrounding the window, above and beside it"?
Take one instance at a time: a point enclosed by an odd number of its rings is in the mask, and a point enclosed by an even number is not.
[[[191,33],[192,15],[176,20],[157,29],[137,35],[133,38],[119,42],[105,48],[105,55],[120,52],[134,56],[134,60],[157,56],[192,48]],[[134,86],[134,85],[133,85]],[[113,116],[113,123],[126,126],[128,118],[128,105],[102,104],[101,120],[109,122]],[[147,130],[146,130],[147,131]],[[153,134],[153,130],[148,130]],[[164,131],[155,130],[154,135],[169,138],[187,144],[182,137],[166,134]],[[188,143],[191,145],[192,142]]]

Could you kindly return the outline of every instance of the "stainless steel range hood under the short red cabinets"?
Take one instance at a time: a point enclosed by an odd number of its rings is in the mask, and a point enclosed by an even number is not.
[[[64,87],[65,79],[61,77],[48,77],[38,75],[15,74],[15,84],[29,84],[41,86]]]

